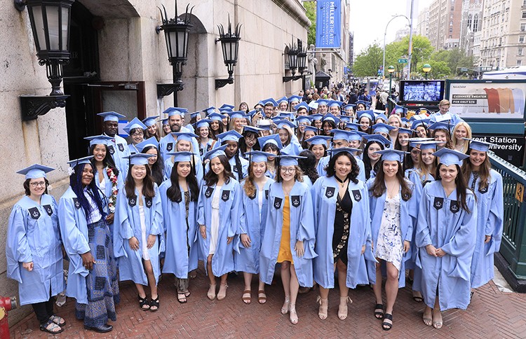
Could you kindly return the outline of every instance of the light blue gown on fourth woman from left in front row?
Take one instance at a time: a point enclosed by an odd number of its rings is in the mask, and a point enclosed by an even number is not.
[[[163,273],[173,273],[175,277],[187,279],[188,272],[195,270],[198,262],[197,202],[189,202],[187,225],[184,191],[181,188],[181,201],[173,202],[166,195],[171,186],[172,181],[168,179],[159,187],[163,206],[164,232],[166,232]]]

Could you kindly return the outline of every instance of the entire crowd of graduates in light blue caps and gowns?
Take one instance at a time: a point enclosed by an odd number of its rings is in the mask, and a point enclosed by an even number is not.
[[[48,194],[53,168],[18,172],[25,196],[9,219],[6,256],[20,303],[32,305],[42,331],[60,333],[66,320],[53,302],[65,290],[76,319],[104,333],[116,321],[119,282],[133,281],[137,307],[156,312],[161,275],[173,275],[187,303],[201,261],[210,300],[227,298],[236,271],[243,303],[252,303],[255,275],[257,302],[266,303],[278,270],[292,324],[298,293],[317,285],[326,319],[337,284],[344,320],[349,289],[370,284],[371,317],[389,331],[408,284],[425,303],[424,323],[440,328],[441,312],[466,309],[494,276],[502,179],[490,144],[472,138],[447,100],[436,113],[410,111],[389,104],[396,95],[371,97],[354,83],[237,110],[170,107],[131,120],[128,140],[118,133],[123,115],[100,113],[104,133],[69,162],[58,202]]]

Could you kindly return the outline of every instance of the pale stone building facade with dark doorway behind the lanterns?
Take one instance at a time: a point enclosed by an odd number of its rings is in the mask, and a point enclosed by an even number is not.
[[[311,25],[299,0],[180,0],[179,13],[194,6],[189,36],[189,61],[183,69],[184,90],[179,106],[198,111],[223,103],[249,106],[259,99],[297,94],[301,81],[283,83],[285,44],[300,39],[306,45]],[[173,106],[173,96],[157,97],[157,84],[173,81],[158,7],[175,15],[173,0],[76,0],[72,7],[71,53],[64,68],[65,109],[53,109],[36,120],[22,122],[20,95],[47,95],[50,83],[39,66],[27,11],[13,1],[1,1],[0,36],[0,243],[6,243],[11,207],[23,194],[17,170],[40,162],[55,167],[51,194],[58,200],[67,189],[67,160],[86,155],[83,137],[100,134],[100,111],[117,111],[128,120],[156,116]],[[234,84],[215,89],[215,79],[227,78],[217,25],[241,23],[239,59]],[[8,47],[7,47],[8,46]],[[6,277],[5,250],[0,248],[0,296],[17,296],[17,284]],[[10,312],[19,321],[31,307]]]

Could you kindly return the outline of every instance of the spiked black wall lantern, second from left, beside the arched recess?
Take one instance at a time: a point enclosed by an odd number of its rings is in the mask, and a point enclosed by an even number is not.
[[[157,84],[157,97],[166,97],[173,93],[174,106],[177,107],[177,91],[183,90],[184,83],[182,82],[182,67],[187,64],[188,61],[188,35],[190,32],[190,19],[191,11],[187,9],[184,12],[183,18],[179,18],[177,15],[177,0],[175,1],[175,18],[168,19],[166,14],[166,8],[163,6],[161,12],[161,19],[163,25],[156,27],[156,32],[164,31],[164,37],[166,39],[166,49],[168,50],[168,62],[172,65],[173,71],[173,83],[158,83]]]

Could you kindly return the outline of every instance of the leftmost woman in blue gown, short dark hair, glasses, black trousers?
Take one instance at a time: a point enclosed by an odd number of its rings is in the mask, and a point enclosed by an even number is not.
[[[32,305],[41,330],[56,334],[64,331],[65,320],[53,314],[53,303],[65,282],[58,205],[48,195],[46,178],[53,170],[34,164],[17,172],[25,175],[25,195],[9,216],[6,258],[7,277],[18,282],[20,305]]]

